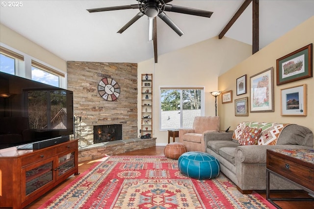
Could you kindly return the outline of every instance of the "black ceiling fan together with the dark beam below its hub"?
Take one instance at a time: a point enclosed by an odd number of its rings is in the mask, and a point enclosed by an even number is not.
[[[165,13],[166,12],[177,12],[188,15],[196,15],[201,17],[210,18],[213,12],[187,8],[183,6],[176,6],[168,4],[172,0],[137,0],[137,4],[123,5],[123,6],[111,6],[95,9],[87,9],[88,12],[104,12],[112,10],[122,10],[122,9],[139,9],[139,12],[127,23],[125,24],[117,33],[123,33],[128,27],[135,23],[142,16],[146,15],[149,20],[149,40],[154,42],[154,54],[155,63],[157,63],[157,16],[169,27],[171,27],[179,36],[182,36],[183,31],[176,25]]]

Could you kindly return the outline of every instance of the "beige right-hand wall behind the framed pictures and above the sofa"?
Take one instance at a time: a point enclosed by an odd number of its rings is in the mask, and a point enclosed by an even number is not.
[[[250,56],[248,59],[236,65],[234,68],[219,76],[219,90],[225,92],[232,90],[233,99],[242,97],[250,98],[250,76],[266,70],[270,67],[274,68],[274,108],[272,113],[250,113],[249,116],[235,116],[235,102],[221,104],[221,96],[218,102],[218,114],[221,117],[221,127],[231,126],[231,130],[241,121],[261,121],[261,122],[282,122],[296,123],[306,126],[314,131],[314,78],[306,78],[303,80],[290,82],[280,86],[276,85],[276,60],[290,52],[293,52],[303,46],[314,43],[314,17],[306,22],[298,25],[284,36],[272,42],[268,46],[262,48],[259,52]],[[313,60],[312,60],[313,63]],[[247,75],[247,93],[236,95],[236,78]],[[307,84],[307,116],[281,116],[280,111],[280,90]]]

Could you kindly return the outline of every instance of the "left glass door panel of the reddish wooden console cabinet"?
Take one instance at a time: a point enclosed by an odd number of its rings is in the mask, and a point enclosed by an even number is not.
[[[53,181],[53,161],[26,169],[26,196]]]

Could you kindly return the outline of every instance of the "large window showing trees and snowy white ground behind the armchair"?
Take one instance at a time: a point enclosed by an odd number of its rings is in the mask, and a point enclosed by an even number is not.
[[[204,88],[160,88],[161,130],[191,128],[194,117],[203,115]]]

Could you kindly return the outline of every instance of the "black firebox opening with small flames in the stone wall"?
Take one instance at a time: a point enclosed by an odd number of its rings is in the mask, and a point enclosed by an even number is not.
[[[122,140],[122,124],[94,126],[94,144],[114,140]]]

